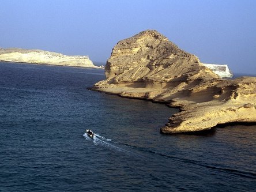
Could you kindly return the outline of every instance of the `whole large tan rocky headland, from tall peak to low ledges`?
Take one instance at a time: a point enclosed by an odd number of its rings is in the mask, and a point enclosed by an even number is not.
[[[116,44],[107,61],[106,80],[92,89],[179,107],[180,112],[171,116],[161,133],[204,131],[232,122],[255,123],[256,78],[224,79],[211,68],[221,67],[207,67],[159,32],[147,30]]]

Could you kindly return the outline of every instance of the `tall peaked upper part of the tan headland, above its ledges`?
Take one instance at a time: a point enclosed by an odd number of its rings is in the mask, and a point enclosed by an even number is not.
[[[157,31],[144,31],[113,48],[106,65],[107,82],[169,82],[219,78],[195,55],[180,50]]]

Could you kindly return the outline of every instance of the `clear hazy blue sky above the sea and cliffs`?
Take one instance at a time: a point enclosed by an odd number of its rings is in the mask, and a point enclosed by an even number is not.
[[[89,55],[155,29],[201,62],[256,74],[255,0],[0,0],[0,47]]]

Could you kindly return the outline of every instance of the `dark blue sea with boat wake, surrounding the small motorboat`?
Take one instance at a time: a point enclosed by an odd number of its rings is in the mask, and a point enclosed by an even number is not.
[[[177,110],[86,89],[103,79],[0,63],[0,191],[255,191],[256,126],[162,135]]]

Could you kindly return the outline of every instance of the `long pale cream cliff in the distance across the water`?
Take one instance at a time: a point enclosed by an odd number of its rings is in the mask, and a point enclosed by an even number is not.
[[[25,50],[21,48],[0,48],[0,61],[37,63],[74,67],[90,67],[102,69],[93,65],[88,56],[63,55],[57,52],[43,50]]]

